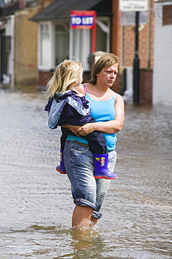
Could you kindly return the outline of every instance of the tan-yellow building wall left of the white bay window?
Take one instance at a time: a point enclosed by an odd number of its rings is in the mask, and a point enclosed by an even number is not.
[[[15,13],[15,84],[37,82],[37,24],[29,21],[35,13],[35,7]]]

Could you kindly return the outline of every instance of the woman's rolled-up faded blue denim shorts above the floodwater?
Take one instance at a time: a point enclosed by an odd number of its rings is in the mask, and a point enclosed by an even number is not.
[[[116,151],[108,153],[108,169],[113,172],[117,155]],[[73,141],[66,141],[64,148],[64,165],[71,182],[71,193],[76,205],[92,207],[92,216],[101,218],[101,205],[108,191],[108,179],[94,178],[94,158],[88,147],[80,146]]]

